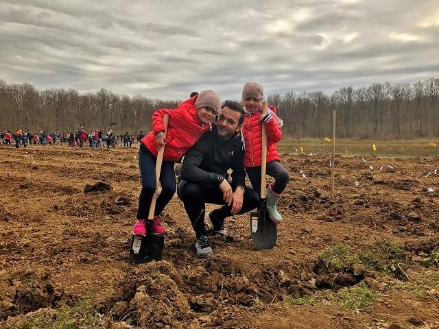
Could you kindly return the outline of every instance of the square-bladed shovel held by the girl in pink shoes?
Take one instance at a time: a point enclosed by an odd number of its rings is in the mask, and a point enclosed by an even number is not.
[[[163,123],[165,124],[165,137],[167,132],[167,123],[169,115],[163,115]],[[163,153],[165,146],[158,148],[156,160],[156,186],[160,181],[160,173],[162,170]],[[130,263],[139,264],[147,263],[151,260],[161,260],[163,255],[163,245],[165,244],[165,236],[163,234],[155,234],[152,232],[152,223],[154,221],[154,210],[156,210],[157,191],[152,196],[150,212],[146,221],[146,236],[134,234],[131,241]]]

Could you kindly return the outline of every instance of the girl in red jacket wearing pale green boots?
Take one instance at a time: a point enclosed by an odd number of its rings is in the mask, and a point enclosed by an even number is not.
[[[262,114],[263,87],[257,82],[247,82],[242,90],[242,103],[246,110],[243,133],[246,152],[244,166],[254,190],[261,191],[261,141],[262,125],[267,132],[267,175],[274,178],[274,184],[268,185],[267,210],[274,223],[281,223],[282,216],[276,209],[276,203],[288,184],[289,175],[280,163],[276,143],[281,141],[283,121],[276,116],[276,108],[268,106],[268,114]]]

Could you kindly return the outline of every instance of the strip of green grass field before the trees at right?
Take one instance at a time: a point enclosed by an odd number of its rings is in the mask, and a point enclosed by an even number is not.
[[[429,143],[434,143],[437,146],[429,146]],[[376,145],[377,150],[373,150],[373,145]],[[324,138],[305,138],[293,139],[284,138],[278,143],[278,151],[281,153],[300,153],[302,147],[304,153],[313,154],[331,154],[332,141],[327,142]],[[297,151],[296,151],[297,150]],[[350,138],[336,138],[335,151],[342,155],[366,155],[366,156],[399,156],[399,157],[425,157],[439,156],[439,141],[427,139],[412,139],[399,141],[385,141],[385,140],[364,140],[364,139],[350,139]]]

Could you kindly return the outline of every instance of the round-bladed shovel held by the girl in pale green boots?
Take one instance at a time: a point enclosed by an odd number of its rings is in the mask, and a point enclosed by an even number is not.
[[[267,102],[263,102],[263,114],[267,113]],[[277,240],[276,224],[270,219],[267,212],[266,184],[267,172],[267,133],[265,124],[262,123],[262,148],[261,148],[261,200],[257,211],[250,212],[250,226],[252,231],[253,247],[257,250],[272,249]]]

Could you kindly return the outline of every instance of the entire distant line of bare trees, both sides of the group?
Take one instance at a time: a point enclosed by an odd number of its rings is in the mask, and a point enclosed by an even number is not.
[[[88,130],[112,127],[117,132],[148,131],[154,110],[175,108],[178,102],[117,95],[105,89],[85,95],[73,89],[37,90],[30,84],[0,80],[0,130],[71,131],[83,124]],[[269,95],[268,102],[278,107],[285,134],[297,138],[330,136],[334,109],[339,137],[439,136],[439,79],[413,85],[385,82],[357,89],[346,87],[332,95],[289,91]]]

